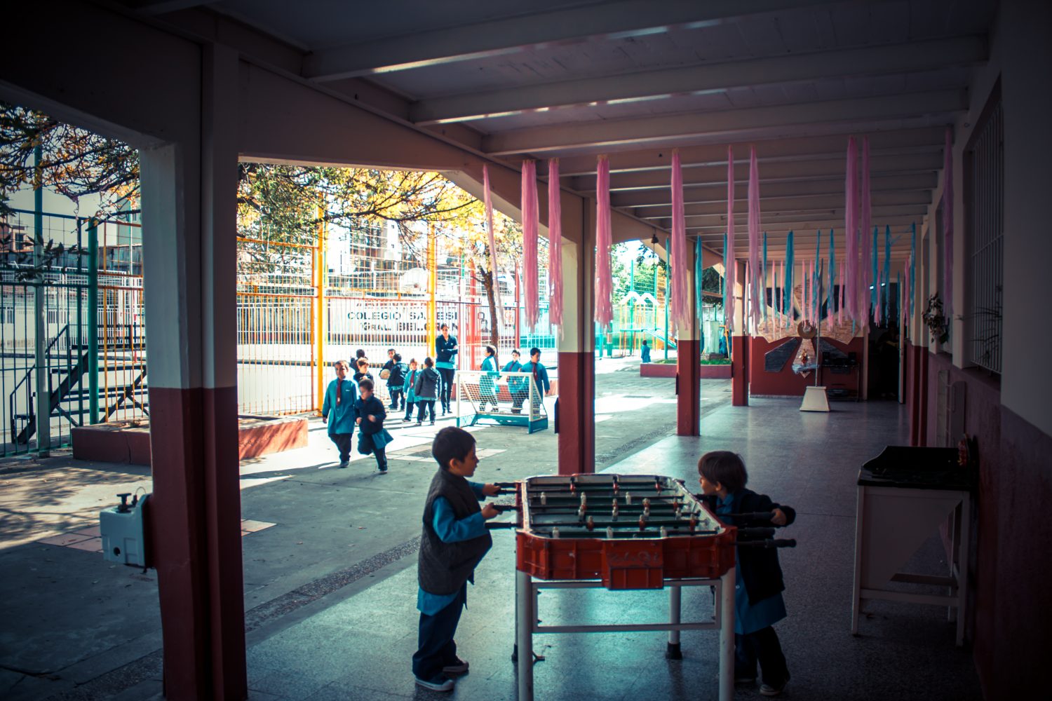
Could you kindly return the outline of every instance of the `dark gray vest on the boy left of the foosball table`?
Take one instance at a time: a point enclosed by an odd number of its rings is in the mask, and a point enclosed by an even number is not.
[[[479,499],[467,480],[448,470],[439,470],[431,479],[424,507],[424,534],[420,539],[420,558],[417,578],[420,586],[429,594],[456,594],[474,574],[474,565],[493,544],[489,532],[485,536],[442,542],[434,532],[434,499],[445,497],[458,519],[482,511]]]

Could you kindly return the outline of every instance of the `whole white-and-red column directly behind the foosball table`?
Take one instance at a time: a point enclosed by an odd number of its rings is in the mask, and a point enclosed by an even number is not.
[[[595,201],[563,197],[559,474],[595,471]],[[578,243],[583,242],[583,243]]]

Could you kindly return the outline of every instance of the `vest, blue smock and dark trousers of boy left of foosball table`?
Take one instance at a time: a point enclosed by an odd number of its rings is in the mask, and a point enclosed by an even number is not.
[[[444,666],[458,663],[453,636],[467,603],[467,582],[474,582],[474,569],[493,543],[479,506],[482,490],[448,470],[431,479],[417,565],[420,635],[412,674],[418,679],[434,680]]]

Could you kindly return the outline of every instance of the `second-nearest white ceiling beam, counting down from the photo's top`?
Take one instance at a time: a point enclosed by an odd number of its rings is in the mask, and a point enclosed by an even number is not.
[[[954,37],[520,85],[423,100],[410,106],[409,120],[418,124],[442,124],[560,107],[723,92],[755,85],[972,65],[986,60],[986,44],[983,37]]]

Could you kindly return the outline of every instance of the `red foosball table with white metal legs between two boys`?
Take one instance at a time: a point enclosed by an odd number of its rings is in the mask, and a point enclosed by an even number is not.
[[[668,632],[666,657],[679,659],[680,632],[720,631],[720,699],[734,693],[734,547],[781,547],[772,529],[736,529],[717,519],[682,480],[660,475],[582,474],[499,484],[515,492],[515,653],[519,701],[533,699],[534,633]],[[500,504],[499,504],[499,508]],[[765,514],[742,514],[761,518]],[[770,514],[766,514],[769,518]],[[758,539],[756,536],[760,536]],[[708,620],[683,621],[685,586],[714,590]],[[668,621],[541,625],[542,589],[669,590]]]

